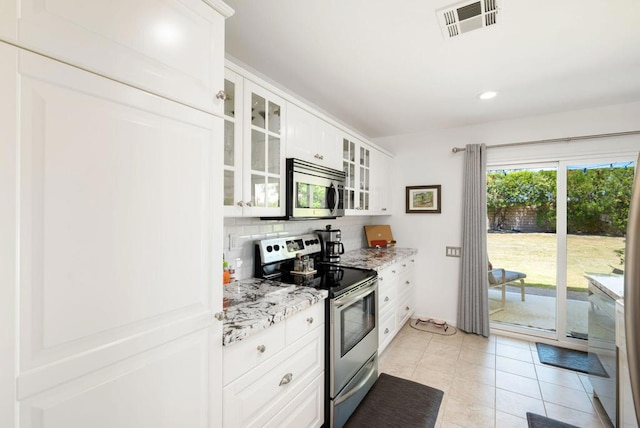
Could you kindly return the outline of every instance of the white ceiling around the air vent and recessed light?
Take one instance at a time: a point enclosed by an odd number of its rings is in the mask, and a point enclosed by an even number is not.
[[[502,0],[449,40],[449,0],[225,2],[228,54],[370,138],[640,100],[639,0]]]

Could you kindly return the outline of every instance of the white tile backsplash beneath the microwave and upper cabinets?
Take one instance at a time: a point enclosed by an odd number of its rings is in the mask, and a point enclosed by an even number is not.
[[[253,277],[253,243],[256,240],[294,236],[324,229],[330,224],[333,229],[342,231],[342,242],[345,251],[357,250],[367,246],[364,226],[381,224],[384,218],[379,217],[340,217],[335,220],[309,221],[277,221],[259,220],[257,218],[225,218],[224,219],[224,255],[231,266],[236,269],[236,278]]]

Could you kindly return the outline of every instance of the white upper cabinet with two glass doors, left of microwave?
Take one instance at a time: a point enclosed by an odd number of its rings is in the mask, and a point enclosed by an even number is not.
[[[225,216],[284,215],[284,100],[226,70]]]

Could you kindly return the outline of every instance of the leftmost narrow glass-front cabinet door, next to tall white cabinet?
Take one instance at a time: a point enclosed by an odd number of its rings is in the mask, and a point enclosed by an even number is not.
[[[224,92],[224,215],[242,216],[242,76],[225,70]]]

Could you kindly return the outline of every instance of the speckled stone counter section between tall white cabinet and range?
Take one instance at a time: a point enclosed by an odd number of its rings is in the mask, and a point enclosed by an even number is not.
[[[222,344],[231,345],[327,298],[316,290],[250,278],[224,286]]]

